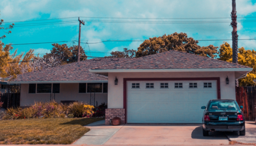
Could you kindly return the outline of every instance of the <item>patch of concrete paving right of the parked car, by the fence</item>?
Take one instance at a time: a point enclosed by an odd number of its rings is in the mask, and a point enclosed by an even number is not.
[[[245,136],[240,136],[239,132],[226,132],[229,140],[237,141],[239,143],[253,143],[256,144],[256,123],[245,123]]]

